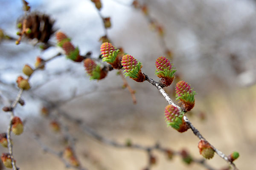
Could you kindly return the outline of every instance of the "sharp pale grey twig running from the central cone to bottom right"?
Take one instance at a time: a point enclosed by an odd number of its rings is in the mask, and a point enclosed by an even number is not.
[[[178,105],[175,104],[175,102],[172,101],[172,99],[169,97],[168,94],[166,94],[166,92],[163,90],[163,88],[161,88],[160,85],[158,85],[158,83],[156,81],[154,81],[153,79],[149,78],[146,74],[144,74],[146,77],[146,80],[148,82],[150,82],[152,85],[154,85],[158,91],[160,91],[160,93],[164,96],[164,98],[166,99],[166,101],[169,103],[169,105],[174,105],[175,107],[177,107],[180,111],[186,112],[184,110],[182,110]],[[190,129],[193,131],[193,133],[195,134],[195,136],[197,136],[199,139],[203,139],[204,141],[208,142],[202,135],[201,133],[192,125],[192,123],[189,121],[189,119],[187,118],[187,116],[183,116],[184,121],[187,123],[187,125],[190,127]],[[208,142],[209,143],[209,142]],[[209,143],[210,144],[210,143]],[[238,170],[238,168],[236,167],[236,165],[229,161],[229,159],[227,158],[227,156],[222,153],[220,150],[218,150],[216,147],[214,147],[212,144],[210,144],[212,149],[215,151],[215,153],[217,153],[218,156],[220,156],[222,159],[224,159],[225,161],[227,161],[234,170]]]

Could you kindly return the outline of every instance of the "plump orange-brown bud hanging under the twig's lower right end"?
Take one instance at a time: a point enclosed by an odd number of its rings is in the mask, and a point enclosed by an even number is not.
[[[198,148],[200,154],[206,158],[206,159],[212,159],[214,156],[214,150],[212,149],[211,145],[205,141],[204,139],[201,139],[198,143]]]

